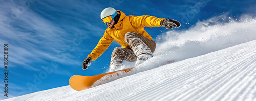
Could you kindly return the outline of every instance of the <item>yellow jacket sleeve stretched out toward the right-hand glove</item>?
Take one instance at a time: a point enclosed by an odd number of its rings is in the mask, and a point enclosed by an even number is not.
[[[161,27],[161,21],[166,20],[165,18],[157,18],[154,16],[130,16],[130,22],[134,27]]]

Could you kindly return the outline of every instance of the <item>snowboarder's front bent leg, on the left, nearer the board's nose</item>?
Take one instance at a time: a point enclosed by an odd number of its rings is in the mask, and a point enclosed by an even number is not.
[[[123,61],[134,62],[137,56],[131,48],[116,47],[111,55],[110,71],[116,71],[122,68]]]

